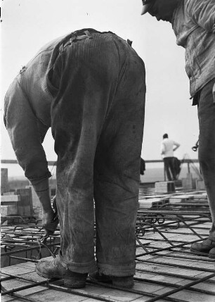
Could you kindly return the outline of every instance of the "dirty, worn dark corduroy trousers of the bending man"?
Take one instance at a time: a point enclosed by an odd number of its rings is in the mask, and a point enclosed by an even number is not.
[[[74,272],[135,273],[145,107],[143,61],[112,33],[79,31],[53,51],[60,258]]]

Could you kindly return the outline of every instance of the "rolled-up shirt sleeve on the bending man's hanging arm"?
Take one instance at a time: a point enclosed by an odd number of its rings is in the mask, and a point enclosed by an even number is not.
[[[5,96],[4,123],[18,163],[25,171],[25,177],[32,184],[50,177],[46,154],[41,144],[48,128],[41,131],[42,127],[39,127],[39,122],[17,79],[13,81]]]

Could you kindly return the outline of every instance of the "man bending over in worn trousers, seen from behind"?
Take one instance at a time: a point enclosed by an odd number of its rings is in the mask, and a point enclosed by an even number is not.
[[[133,286],[144,106],[143,61],[124,39],[93,29],[46,44],[9,87],[6,128],[46,230],[53,220],[42,146],[48,127],[58,155],[60,253],[37,264],[42,277],[78,288],[95,272],[100,281]]]

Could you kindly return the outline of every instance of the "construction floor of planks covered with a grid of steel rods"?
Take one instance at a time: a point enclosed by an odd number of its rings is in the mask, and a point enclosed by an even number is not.
[[[68,289],[63,280],[39,277],[34,271],[35,263],[39,261],[37,253],[41,256],[39,226],[37,230],[32,225],[20,225],[13,232],[12,226],[3,225],[1,244],[8,247],[13,238],[13,245],[10,249],[5,248],[3,253],[4,257],[11,259],[9,266],[1,268],[2,301],[214,302],[215,259],[190,251],[190,245],[206,238],[211,227],[205,191],[180,189],[169,194],[157,194],[154,189],[141,187],[139,201],[136,275],[132,289],[89,279],[84,289]],[[32,246],[29,244],[30,234],[34,234]],[[56,234],[56,241],[51,239],[46,243],[50,252],[46,257],[48,260],[53,259],[58,251],[59,234]],[[27,249],[25,257],[15,256],[17,241],[22,248],[16,251],[20,254]],[[32,259],[28,254],[31,247],[34,248]]]

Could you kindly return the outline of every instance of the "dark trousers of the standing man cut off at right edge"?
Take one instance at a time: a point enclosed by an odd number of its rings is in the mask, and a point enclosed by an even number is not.
[[[199,161],[211,210],[212,229],[215,229],[215,103],[212,93],[214,83],[215,79],[211,80],[198,93]]]

